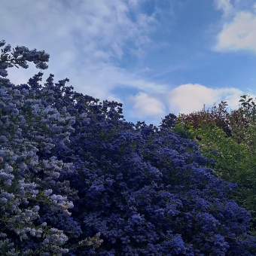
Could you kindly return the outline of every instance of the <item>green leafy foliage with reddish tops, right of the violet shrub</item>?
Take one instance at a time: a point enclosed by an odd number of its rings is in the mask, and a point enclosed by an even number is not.
[[[256,234],[256,111],[251,98],[241,98],[242,106],[230,114],[227,102],[211,111],[203,107],[196,113],[180,114],[170,130],[197,141],[203,156],[214,160],[215,175],[238,184],[232,199],[251,212],[251,232]]]

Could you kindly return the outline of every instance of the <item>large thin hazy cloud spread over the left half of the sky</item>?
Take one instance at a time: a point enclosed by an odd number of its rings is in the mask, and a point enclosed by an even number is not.
[[[157,20],[154,14],[142,13],[141,3],[78,0],[76,5],[70,5],[50,0],[43,3],[4,0],[0,22],[5,26],[0,33],[12,38],[7,40],[12,47],[19,44],[50,54],[49,69],[43,71],[41,84],[52,73],[54,82],[67,77],[76,91],[101,100],[119,99],[111,93],[118,84],[150,93],[161,90],[161,86],[140,78],[139,72],[136,75],[118,67],[127,41],[133,42],[132,52],[139,59],[145,57],[145,47],[154,44],[148,33],[154,31]],[[32,62],[28,64],[29,69],[8,69],[8,78],[14,84],[26,84],[39,72]]]

